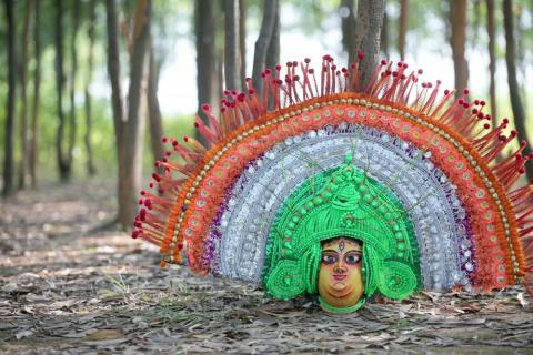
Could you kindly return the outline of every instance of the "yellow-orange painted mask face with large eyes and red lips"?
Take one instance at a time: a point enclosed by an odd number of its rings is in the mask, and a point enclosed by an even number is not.
[[[319,294],[334,307],[350,307],[363,296],[362,246],[355,240],[338,237],[322,244]]]

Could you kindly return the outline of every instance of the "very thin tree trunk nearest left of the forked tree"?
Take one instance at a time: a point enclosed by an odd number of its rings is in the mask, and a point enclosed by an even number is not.
[[[88,58],[88,73],[86,80],[86,151],[87,151],[87,172],[89,175],[94,175],[97,169],[94,168],[94,161],[92,156],[91,133],[92,133],[92,110],[91,110],[91,93],[89,87],[92,81],[92,62],[93,62],[93,48],[94,48],[94,18],[95,18],[95,0],[89,1],[89,58]]]

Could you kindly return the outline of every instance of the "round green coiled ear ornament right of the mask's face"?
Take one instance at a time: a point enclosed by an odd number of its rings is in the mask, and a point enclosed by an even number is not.
[[[403,300],[416,290],[416,276],[404,263],[384,262],[379,272],[378,287],[385,297]]]

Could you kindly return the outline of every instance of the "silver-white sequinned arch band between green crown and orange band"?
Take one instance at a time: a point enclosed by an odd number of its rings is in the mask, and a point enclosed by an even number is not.
[[[264,262],[265,235],[269,233],[274,213],[286,194],[292,192],[303,180],[321,170],[340,165],[345,152],[354,146],[356,150],[354,164],[361,169],[366,169],[372,178],[384,185],[390,185],[390,189],[395,191],[396,196],[405,205],[415,206],[422,203],[420,206],[413,207],[410,214],[416,230],[419,245],[421,245],[420,253],[424,265],[422,271],[428,271],[423,275],[424,285],[441,288],[442,286],[451,287],[455,284],[469,284],[470,282],[464,275],[460,276],[464,273],[470,274],[473,270],[473,264],[470,261],[473,251],[471,250],[470,239],[465,234],[469,227],[466,224],[462,232],[457,230],[457,226],[465,223],[461,221],[461,214],[463,214],[462,219],[464,220],[465,213],[445,175],[423,156],[423,152],[399,138],[391,138],[375,129],[365,129],[346,123],[341,123],[336,129],[326,126],[318,132],[311,131],[289,138],[284,143],[278,144],[244,170],[232,192],[222,203],[220,212],[222,217],[214,224],[218,226],[211,230],[210,239],[207,242],[208,245],[217,244],[213,252],[215,255],[207,255],[208,260],[214,258],[211,272],[259,282],[261,266]],[[366,154],[361,153],[375,152],[374,156],[379,155],[381,159],[386,159],[383,151],[389,151],[395,155],[393,154],[389,161],[382,161],[382,168],[380,168],[380,162],[374,159],[369,162],[368,156],[363,156]],[[402,168],[399,162],[405,162],[403,163],[404,166]],[[310,166],[308,168],[306,164],[310,164]],[[388,165],[390,165],[391,171],[396,171],[395,176],[391,178],[384,173],[389,171],[386,170]],[[286,179],[280,178],[285,173],[283,166],[291,166],[291,170],[286,172]],[[432,171],[431,173],[426,171],[429,169]],[[399,179],[398,172],[403,175],[402,179]],[[422,175],[419,176],[421,172],[424,172],[426,176],[423,179]],[[406,180],[408,176],[420,181],[413,184],[413,182]],[[391,181],[391,179],[395,181]],[[419,192],[415,185],[421,186],[424,181],[425,190],[435,192],[431,200],[428,196],[416,196]],[[273,191],[269,192],[271,185]],[[402,190],[406,191],[403,192]],[[414,195],[411,195],[411,193]],[[430,201],[434,200],[433,206],[426,205],[428,201],[422,201],[425,200],[423,197]],[[261,201],[264,201],[264,204]],[[263,205],[265,206],[263,207]],[[446,205],[449,206],[446,207]],[[422,214],[422,209],[426,210],[425,213],[436,213],[435,217],[426,220],[426,214]],[[452,209],[455,209],[456,212],[453,213]],[[438,214],[443,211],[449,211],[446,212],[449,216],[443,214],[442,217],[438,217]],[[420,215],[418,216],[418,214]],[[255,221],[260,223],[255,223]],[[436,225],[440,225],[440,227],[438,229]],[[450,231],[447,232],[450,236],[445,236],[445,231]],[[447,243],[451,244],[428,244],[425,235],[429,233],[439,233],[441,236],[439,240],[450,240]],[[461,235],[464,236],[461,237]],[[463,251],[461,255],[456,254],[457,250]],[[441,251],[444,251],[444,254]],[[445,256],[446,254],[447,256]],[[430,255],[433,255],[432,262],[429,261]],[[441,272],[436,272],[435,265],[442,263],[436,257],[442,256],[449,260],[452,270],[444,267],[439,268],[442,270]],[[461,265],[457,256],[462,258]],[[461,271],[461,267],[463,267],[463,271]],[[431,273],[430,270],[432,270]],[[433,277],[440,277],[440,280],[432,281]]]

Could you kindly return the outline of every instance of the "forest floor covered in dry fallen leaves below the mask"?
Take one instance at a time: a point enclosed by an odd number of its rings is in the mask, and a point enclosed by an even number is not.
[[[1,354],[533,354],[531,300],[420,293],[331,315],[311,298],[159,267],[117,231],[112,185],[53,185],[0,201]]]

